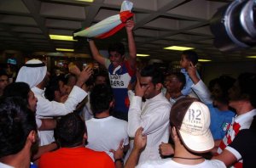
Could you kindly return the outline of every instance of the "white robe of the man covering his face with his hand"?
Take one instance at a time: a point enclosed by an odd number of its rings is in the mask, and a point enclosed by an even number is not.
[[[160,92],[154,98],[147,99],[145,103],[142,98],[134,96],[131,98],[128,113],[128,134],[135,136],[137,128],[143,127],[143,134],[147,135],[147,146],[143,150],[139,163],[146,160],[160,160],[159,145],[161,142],[168,143],[169,140],[169,116],[171,104]],[[133,148],[133,141],[130,143],[128,155]]]

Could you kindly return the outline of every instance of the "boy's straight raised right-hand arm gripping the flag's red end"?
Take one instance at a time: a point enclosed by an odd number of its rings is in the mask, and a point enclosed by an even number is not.
[[[128,38],[128,48],[129,48],[129,63],[131,64],[131,68],[135,69],[136,68],[136,56],[137,56],[137,49],[135,46],[135,41],[133,37],[133,27],[134,27],[134,22],[133,20],[128,20],[126,22],[125,28],[127,32],[127,38]]]

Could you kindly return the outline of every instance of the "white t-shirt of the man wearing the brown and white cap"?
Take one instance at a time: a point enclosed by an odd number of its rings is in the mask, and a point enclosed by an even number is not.
[[[165,160],[150,160],[146,161],[136,168],[222,168],[226,167],[222,161],[219,160],[205,160],[201,164],[197,165],[183,165],[173,161],[172,159]]]

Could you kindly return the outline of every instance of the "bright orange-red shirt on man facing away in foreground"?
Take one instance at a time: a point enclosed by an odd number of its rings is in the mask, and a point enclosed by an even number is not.
[[[39,168],[114,168],[114,163],[108,154],[104,152],[96,152],[90,148],[78,147],[60,148],[54,152],[43,154],[38,166]]]

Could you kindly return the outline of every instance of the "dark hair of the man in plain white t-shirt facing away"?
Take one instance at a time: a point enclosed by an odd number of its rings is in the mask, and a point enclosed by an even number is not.
[[[109,109],[111,101],[113,101],[113,91],[109,85],[99,84],[92,88],[90,92],[90,107],[94,115]]]

